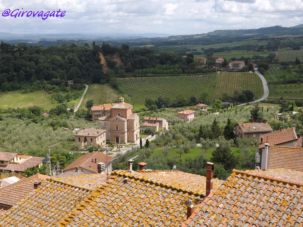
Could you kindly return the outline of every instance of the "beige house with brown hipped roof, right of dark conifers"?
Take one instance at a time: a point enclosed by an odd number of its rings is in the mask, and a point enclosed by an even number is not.
[[[250,123],[238,123],[235,125],[235,136],[259,140],[263,134],[272,132],[267,121],[253,121]]]

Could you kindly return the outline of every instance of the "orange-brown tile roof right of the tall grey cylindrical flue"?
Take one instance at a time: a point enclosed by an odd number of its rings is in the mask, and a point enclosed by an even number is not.
[[[303,147],[270,146],[267,167],[303,171]]]

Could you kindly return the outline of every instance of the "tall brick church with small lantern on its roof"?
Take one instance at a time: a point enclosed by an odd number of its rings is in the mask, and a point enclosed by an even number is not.
[[[135,143],[139,139],[139,115],[132,113],[133,106],[119,98],[110,107],[109,115],[99,117],[99,129],[106,130],[106,140],[116,143]]]

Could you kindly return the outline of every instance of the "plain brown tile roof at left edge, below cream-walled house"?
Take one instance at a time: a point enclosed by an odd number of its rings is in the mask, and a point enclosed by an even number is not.
[[[17,204],[30,192],[35,190],[34,182],[43,182],[46,179],[50,179],[50,176],[38,173],[31,177],[23,178],[10,186],[0,189],[0,204],[5,204],[7,206]]]

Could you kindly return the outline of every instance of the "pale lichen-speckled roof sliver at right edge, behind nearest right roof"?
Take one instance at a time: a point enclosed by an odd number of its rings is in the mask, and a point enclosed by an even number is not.
[[[278,179],[284,179],[289,181],[295,181],[299,183],[303,183],[303,171],[291,170],[291,169],[266,169],[266,170],[245,170],[249,173],[261,174],[266,175],[268,177],[274,177]]]

